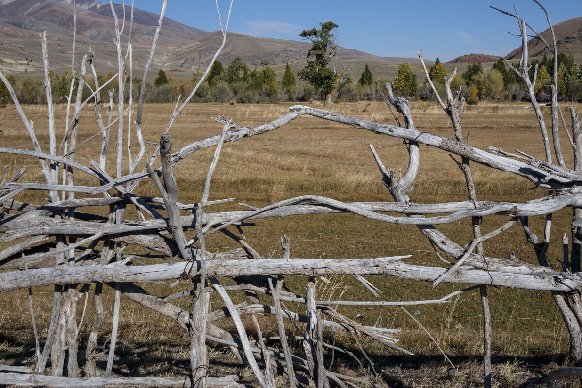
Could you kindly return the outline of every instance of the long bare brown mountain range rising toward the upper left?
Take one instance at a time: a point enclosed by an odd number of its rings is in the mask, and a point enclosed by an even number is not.
[[[124,9],[113,5],[119,19]],[[51,69],[61,74],[70,69],[73,37],[73,0],[0,0],[0,66],[17,79],[25,75],[41,76],[42,56],[39,33],[47,31],[48,56]],[[125,6],[125,16],[131,16]],[[115,28],[111,6],[94,0],[76,0],[76,63],[89,48],[94,51],[94,63],[99,73],[117,70]],[[133,11],[132,54],[134,76],[140,75],[150,53],[159,15],[140,9]],[[127,42],[129,23],[125,23],[122,42]],[[212,33],[164,18],[152,69],[178,70],[178,78],[190,77],[197,67],[205,68],[221,45],[220,31]],[[306,41],[258,38],[228,33],[227,42],[218,59],[224,66],[240,56],[251,69],[261,60],[279,72],[289,62],[295,73],[305,65],[311,43]],[[125,53],[125,45],[123,51]],[[368,63],[374,77],[395,75],[396,66],[408,60],[418,77],[424,77],[418,59],[385,58],[355,49],[340,49],[332,65],[338,72],[351,72],[357,79]],[[427,65],[430,65],[427,61]],[[297,69],[297,70],[295,70]],[[26,73],[25,73],[26,72]],[[152,76],[155,76],[155,73]]]

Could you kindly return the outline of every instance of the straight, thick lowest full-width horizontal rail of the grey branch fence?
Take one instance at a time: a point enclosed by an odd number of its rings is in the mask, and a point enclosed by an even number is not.
[[[401,279],[432,282],[446,271],[445,268],[404,264],[399,260],[408,256],[368,259],[248,259],[206,261],[207,276],[232,277],[241,275],[304,275],[328,276],[336,273],[346,275],[387,275]],[[48,286],[49,284],[79,284],[108,282],[151,282],[152,280],[178,279],[184,265],[152,264],[128,266],[119,262],[109,265],[30,269],[27,271],[0,274],[0,292],[25,287]],[[194,272],[196,270],[196,272]],[[197,269],[189,277],[196,277]],[[445,281],[453,284],[487,284],[530,290],[572,291],[582,288],[580,275],[572,279],[560,273],[508,273],[486,270],[458,269]]]

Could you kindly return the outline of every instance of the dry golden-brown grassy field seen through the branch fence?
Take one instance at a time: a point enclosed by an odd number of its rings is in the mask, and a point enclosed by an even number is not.
[[[201,138],[214,136],[222,130],[222,124],[211,119],[219,115],[250,126],[269,122],[288,111],[292,104],[281,105],[218,105],[190,104],[176,120],[171,136],[173,149],[177,150]],[[311,104],[324,108],[320,104]],[[481,104],[468,106],[462,118],[470,143],[475,147],[501,147],[505,151],[515,149],[542,159],[540,130],[531,109],[522,109],[525,104]],[[34,121],[37,136],[44,149],[48,149],[46,108],[24,107],[30,120]],[[173,105],[147,105],[144,108],[143,130],[147,141],[157,142],[164,131]],[[580,112],[580,106],[576,106]],[[345,115],[393,123],[392,115],[384,104],[359,102],[334,104],[329,110]],[[64,106],[56,106],[60,128],[64,127]],[[412,108],[417,129],[429,133],[454,137],[448,117],[438,105],[414,102]],[[545,112],[549,116],[548,111]],[[548,118],[549,122],[549,118]],[[80,118],[79,138],[87,138],[97,132],[93,112],[86,111]],[[62,133],[62,131],[61,131]],[[3,147],[32,148],[22,121],[12,106],[0,109],[0,138]],[[100,136],[84,144],[76,154],[76,161],[88,163],[98,159]],[[316,194],[341,201],[391,201],[382,185],[368,144],[374,144],[387,168],[407,165],[406,148],[402,140],[378,136],[364,130],[354,129],[315,118],[302,117],[287,126],[261,136],[246,138],[225,144],[215,170],[210,200],[236,197],[236,201],[213,205],[206,212],[244,208],[239,202],[255,207],[270,204],[297,195]],[[155,146],[150,146],[150,153]],[[114,158],[115,145],[110,147]],[[137,147],[134,145],[134,150]],[[562,149],[565,158],[572,161],[567,138],[563,136]],[[124,146],[125,152],[125,146]],[[134,153],[136,151],[133,151]],[[178,168],[176,175],[179,201],[196,202],[200,199],[205,173],[214,154],[214,149],[203,149],[190,155]],[[410,197],[414,202],[443,202],[466,200],[464,179],[455,162],[435,148],[421,145],[421,167]],[[9,175],[21,166],[27,172],[20,182],[41,181],[38,162],[32,158],[0,154],[0,166],[10,165]],[[484,166],[474,165],[477,196],[480,200],[523,202],[546,195],[544,190],[533,188],[531,183],[508,173],[499,173]],[[109,172],[114,169],[109,169]],[[113,174],[112,174],[113,175]],[[83,179],[78,184],[83,184]],[[87,184],[94,184],[87,181]],[[141,184],[137,194],[159,195],[155,187]],[[16,198],[42,204],[44,193],[26,193]],[[128,208],[128,210],[130,210]],[[136,216],[128,211],[127,216]],[[562,257],[561,235],[568,232],[572,212],[564,210],[553,219],[552,245],[548,257],[559,265]],[[530,226],[538,236],[542,235],[543,218],[530,219]],[[505,217],[492,216],[484,219],[485,232],[496,229],[506,222]],[[281,255],[279,237],[287,234],[291,239],[292,257],[307,258],[361,258],[411,254],[407,262],[413,264],[438,265],[437,255],[431,245],[415,226],[392,225],[359,218],[354,215],[292,216],[282,219],[257,220],[254,227],[244,229],[247,242],[261,255]],[[472,237],[470,220],[438,227],[457,243],[469,243]],[[218,234],[218,233],[217,233]],[[225,237],[212,234],[207,245],[211,250],[223,251],[237,247]],[[2,247],[3,248],[3,247]],[[536,262],[533,247],[527,243],[523,230],[514,225],[508,232],[487,241],[485,253],[492,257],[507,257],[516,252],[518,258]],[[273,253],[274,252],[274,253]],[[335,276],[331,284],[320,284],[318,298],[334,299],[340,295],[348,300],[373,300],[360,283],[348,277]],[[424,300],[441,298],[458,286],[439,284],[436,289],[429,283],[372,277],[371,282],[382,290],[384,300]],[[289,279],[293,291],[304,293],[304,279]],[[184,282],[186,283],[186,282]],[[179,287],[186,289],[189,285]],[[177,292],[162,286],[147,286],[158,295]],[[109,321],[105,325],[101,343],[107,341],[111,328],[112,293],[107,290]],[[0,363],[27,362],[34,353],[34,334],[30,324],[30,311],[26,290],[4,293],[0,296]],[[34,290],[34,308],[41,336],[50,320],[52,291]],[[242,300],[242,296],[240,296]],[[490,289],[489,298],[493,319],[494,381],[496,386],[514,386],[539,371],[561,365],[569,349],[569,336],[559,311],[549,293],[513,289]],[[266,300],[266,299],[265,299]],[[83,302],[81,302],[82,304]],[[178,301],[187,307],[189,301]],[[79,305],[79,315],[82,305]],[[81,326],[81,336],[88,333],[93,322],[91,298],[87,316]],[[221,306],[212,296],[211,309]],[[445,305],[426,305],[418,309],[418,320],[435,337],[439,345],[459,366],[456,374],[449,373],[448,364],[442,361],[437,347],[418,325],[398,307],[347,307],[338,308],[353,318],[363,314],[361,323],[382,327],[402,328],[399,345],[416,355],[403,357],[371,341],[364,341],[368,355],[378,361],[385,373],[386,381],[394,386],[478,386],[480,376],[480,354],[482,352],[482,318],[478,291],[462,294]],[[261,318],[266,319],[266,318]],[[120,317],[119,362],[117,373],[169,375],[182,372],[188,365],[188,341],[175,323],[161,318],[133,302],[122,301]],[[109,326],[107,326],[109,325]],[[249,323],[251,326],[251,324]],[[250,328],[249,326],[249,328]],[[292,331],[292,326],[289,326]],[[264,327],[265,334],[276,335],[276,326]],[[296,333],[299,333],[299,330]],[[252,330],[250,330],[252,331]],[[294,334],[296,334],[294,333]],[[333,339],[330,338],[331,342]],[[346,343],[350,350],[357,351],[352,340],[338,334],[339,343]],[[81,344],[81,348],[83,344]],[[84,350],[81,350],[84,351]],[[22,358],[26,354],[27,358]],[[212,365],[234,363],[228,351],[212,350],[215,359]],[[346,365],[342,365],[342,362]],[[336,368],[347,368],[347,360],[336,361]],[[239,373],[244,366],[237,366]]]

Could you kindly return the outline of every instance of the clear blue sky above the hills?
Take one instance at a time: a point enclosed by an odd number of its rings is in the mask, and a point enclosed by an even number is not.
[[[103,0],[101,0],[103,1]],[[115,0],[120,3],[120,0]],[[126,4],[131,0],[126,0]],[[160,0],[135,0],[137,8],[159,13]],[[229,1],[219,0],[226,20]],[[553,24],[582,16],[581,0],[542,1]],[[229,31],[267,38],[300,40],[299,33],[319,22],[339,25],[342,47],[380,56],[443,60],[471,53],[506,55],[520,41],[515,19],[489,8],[517,12],[538,31],[548,24],[531,0],[347,1],[235,0]],[[206,31],[219,29],[215,1],[170,0],[166,16]]]

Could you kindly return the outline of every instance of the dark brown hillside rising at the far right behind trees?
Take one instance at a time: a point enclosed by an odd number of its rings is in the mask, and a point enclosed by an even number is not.
[[[565,22],[558,23],[553,26],[553,31],[556,34],[556,44],[558,44],[558,52],[563,52],[564,54],[574,54],[577,58],[582,57],[582,17],[576,17],[575,19],[565,20]],[[543,33],[542,37],[546,42],[551,44],[552,34],[551,30],[548,28]],[[544,54],[550,54],[544,43],[537,38],[531,38],[527,42],[527,55],[542,56]],[[520,59],[521,58],[521,46],[510,52],[505,59]]]

